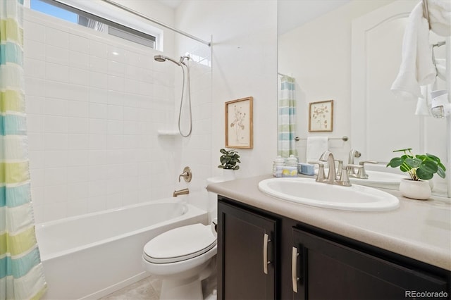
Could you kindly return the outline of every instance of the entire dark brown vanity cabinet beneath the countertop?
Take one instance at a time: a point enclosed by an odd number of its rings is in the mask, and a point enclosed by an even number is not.
[[[450,285],[450,271],[218,196],[218,299],[450,299]]]

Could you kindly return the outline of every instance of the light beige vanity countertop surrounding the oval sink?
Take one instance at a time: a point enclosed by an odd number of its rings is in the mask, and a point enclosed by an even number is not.
[[[432,196],[426,201],[400,199],[394,211],[362,212],[316,208],[273,198],[258,183],[272,175],[214,183],[207,189],[293,220],[320,227],[381,249],[451,270],[451,200]]]

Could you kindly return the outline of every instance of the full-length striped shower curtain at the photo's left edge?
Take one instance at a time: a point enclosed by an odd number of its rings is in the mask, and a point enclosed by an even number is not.
[[[23,92],[23,0],[0,0],[0,300],[47,289],[35,236]]]

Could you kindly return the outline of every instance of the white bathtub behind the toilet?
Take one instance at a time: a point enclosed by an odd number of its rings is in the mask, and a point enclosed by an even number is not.
[[[148,275],[141,256],[150,239],[207,221],[206,211],[169,198],[37,224],[44,299],[99,299],[130,285]]]

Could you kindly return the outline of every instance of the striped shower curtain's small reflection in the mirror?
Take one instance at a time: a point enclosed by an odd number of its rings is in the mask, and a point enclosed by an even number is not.
[[[278,155],[297,156],[295,78],[282,75],[278,96]]]

